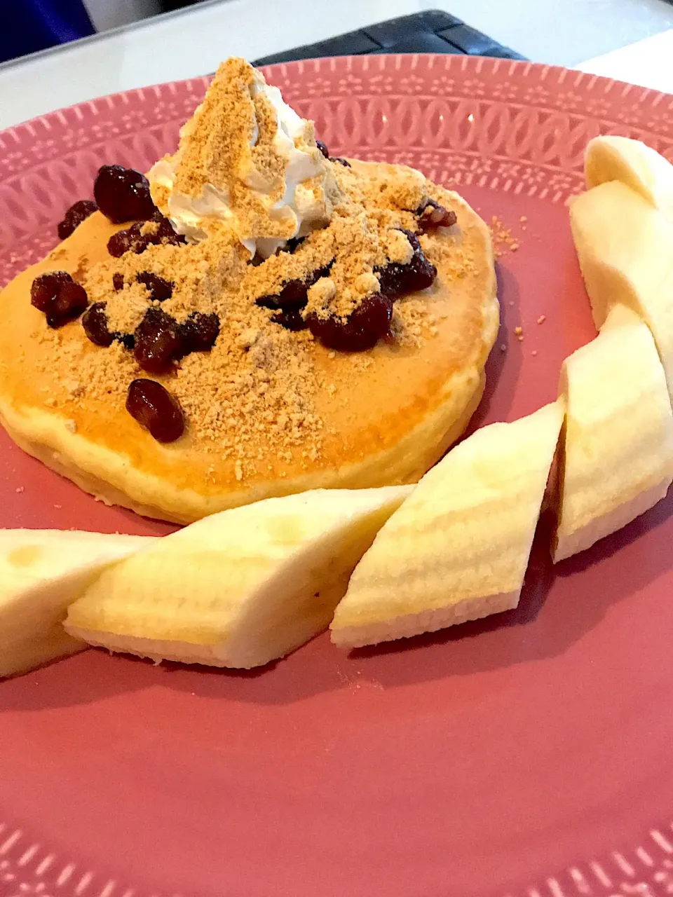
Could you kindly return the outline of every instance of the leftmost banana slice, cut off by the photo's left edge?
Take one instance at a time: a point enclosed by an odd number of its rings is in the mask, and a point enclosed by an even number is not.
[[[154,540],[39,529],[0,530],[0,676],[87,646],[61,623],[101,570]]]

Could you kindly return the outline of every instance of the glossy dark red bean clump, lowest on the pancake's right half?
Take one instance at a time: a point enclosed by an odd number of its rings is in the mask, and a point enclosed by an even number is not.
[[[328,349],[337,352],[364,352],[390,334],[393,303],[388,296],[374,293],[345,319],[318,318],[311,314],[307,321],[310,332]]]

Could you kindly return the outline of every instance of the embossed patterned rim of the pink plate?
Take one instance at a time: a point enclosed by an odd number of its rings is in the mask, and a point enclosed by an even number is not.
[[[583,148],[600,133],[643,139],[673,161],[673,97],[553,66],[353,57],[275,65],[266,74],[316,121],[333,152],[414,165],[457,188],[563,203],[581,190]],[[74,200],[92,195],[102,163],[146,169],[170,152],[207,84],[198,78],[127,91],[0,133],[0,286],[56,244],[56,223]],[[635,837],[633,849],[589,854],[554,877],[516,893],[494,890],[494,897],[673,894],[673,824]],[[32,894],[141,897],[0,823],[0,897]]]

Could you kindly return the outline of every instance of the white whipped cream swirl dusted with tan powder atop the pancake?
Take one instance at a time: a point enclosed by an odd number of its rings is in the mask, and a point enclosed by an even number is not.
[[[242,59],[220,66],[182,128],[178,152],[149,172],[153,200],[189,241],[231,228],[250,256],[324,227],[339,197],[312,123]]]

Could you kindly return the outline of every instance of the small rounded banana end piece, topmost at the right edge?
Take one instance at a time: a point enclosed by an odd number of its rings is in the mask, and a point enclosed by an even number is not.
[[[629,137],[594,137],[584,152],[587,188],[618,180],[673,222],[673,165],[651,146]]]

